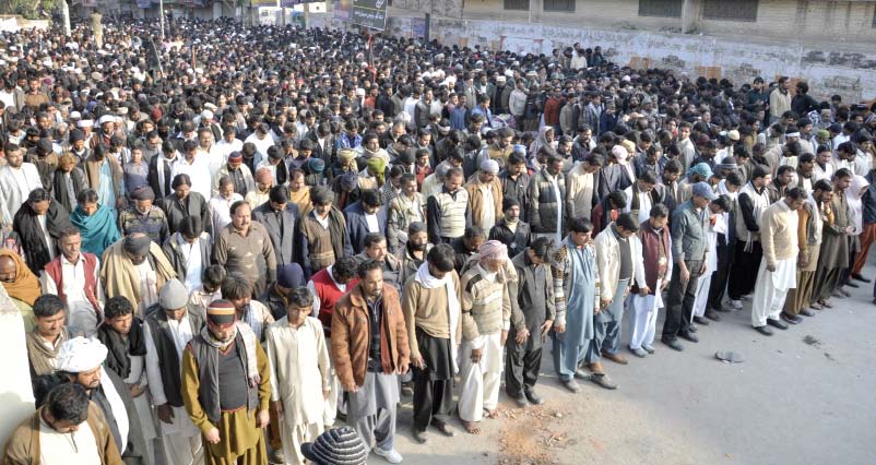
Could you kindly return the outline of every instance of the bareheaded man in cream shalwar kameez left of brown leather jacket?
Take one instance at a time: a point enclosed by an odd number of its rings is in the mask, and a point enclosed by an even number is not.
[[[322,433],[325,400],[331,394],[332,370],[322,323],[308,317],[313,296],[306,287],[287,295],[288,314],[265,331],[271,367],[271,402],[280,419],[280,438],[286,465],[304,464],[301,444]]]

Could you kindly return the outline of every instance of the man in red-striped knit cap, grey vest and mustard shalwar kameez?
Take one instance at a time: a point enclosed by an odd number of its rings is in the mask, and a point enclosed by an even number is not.
[[[268,463],[271,370],[256,334],[232,302],[214,300],[206,325],[182,353],[182,402],[204,440],[208,465]]]

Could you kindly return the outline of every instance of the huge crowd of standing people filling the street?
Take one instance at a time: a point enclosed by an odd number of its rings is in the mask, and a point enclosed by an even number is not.
[[[604,360],[658,335],[745,300],[765,336],[817,324],[869,282],[876,108],[805,82],[167,31],[0,34],[0,283],[38,406],[3,463],[400,463],[403,396],[417,443],[478,434],[502,381],[544,402],[546,345],[571,393],[616,389]]]

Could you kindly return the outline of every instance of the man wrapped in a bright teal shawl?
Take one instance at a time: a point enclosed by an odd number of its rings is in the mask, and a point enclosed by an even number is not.
[[[104,250],[121,239],[113,211],[97,203],[97,192],[85,189],[76,195],[79,205],[70,214],[70,223],[82,231],[82,251],[104,257]]]

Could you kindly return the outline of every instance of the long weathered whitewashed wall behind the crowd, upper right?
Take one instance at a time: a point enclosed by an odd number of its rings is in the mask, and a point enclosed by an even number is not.
[[[391,16],[388,29],[411,37],[412,17]],[[433,20],[431,36],[443,44],[492,50],[551,53],[575,43],[602,46],[609,60],[634,68],[668,68],[689,75],[726,78],[737,85],[755,76],[805,80],[816,98],[839,94],[847,102],[876,97],[876,47],[782,44],[648,31],[599,29],[499,21]]]

